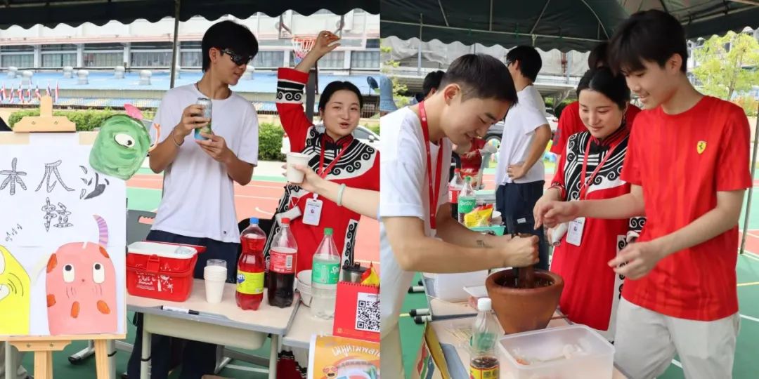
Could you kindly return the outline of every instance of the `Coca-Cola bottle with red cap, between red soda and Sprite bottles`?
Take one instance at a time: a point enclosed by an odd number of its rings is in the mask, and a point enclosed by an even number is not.
[[[290,231],[290,219],[282,218],[282,228],[274,235],[269,249],[269,305],[286,308],[292,305],[298,244]]]

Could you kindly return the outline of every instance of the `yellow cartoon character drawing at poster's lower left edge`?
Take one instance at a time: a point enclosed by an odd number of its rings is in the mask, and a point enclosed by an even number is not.
[[[30,290],[27,271],[0,246],[0,335],[29,334]]]

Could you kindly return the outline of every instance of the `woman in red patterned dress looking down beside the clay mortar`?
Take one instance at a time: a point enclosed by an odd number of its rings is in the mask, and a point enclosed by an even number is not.
[[[587,131],[569,137],[552,185],[535,205],[536,211],[550,201],[609,199],[630,192],[630,184],[619,178],[630,135],[625,122],[630,89],[625,78],[608,68],[589,70],[577,92]],[[614,337],[624,277],[616,275],[608,262],[638,236],[644,222],[644,218],[572,221],[553,252],[550,269],[565,280],[559,309],[609,340]],[[560,233],[558,229],[552,232]]]

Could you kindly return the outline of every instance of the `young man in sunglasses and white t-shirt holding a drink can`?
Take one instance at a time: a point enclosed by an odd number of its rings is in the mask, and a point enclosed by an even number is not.
[[[203,277],[208,259],[227,262],[227,281],[235,283],[240,243],[235,214],[235,183],[250,183],[258,162],[258,118],[253,105],[233,93],[247,63],[258,52],[258,42],[247,29],[232,21],[210,27],[203,36],[203,78],[165,93],[156,113],[155,124],[162,133],[158,146],[150,152],[150,168],[164,173],[163,197],[147,240],[206,246],[199,256],[194,277]],[[209,120],[196,105],[198,98],[212,99]],[[211,122],[213,134],[194,131]],[[139,318],[139,317],[138,317]],[[142,323],[129,360],[128,375],[140,376]],[[153,336],[151,377],[168,375],[168,337]],[[182,378],[199,379],[213,374],[216,345],[187,341],[182,354]]]

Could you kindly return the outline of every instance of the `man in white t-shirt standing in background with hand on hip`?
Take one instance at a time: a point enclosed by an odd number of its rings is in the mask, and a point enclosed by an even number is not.
[[[543,228],[535,230],[532,209],[543,196],[543,152],[551,139],[546,105],[533,83],[543,61],[531,46],[517,46],[506,54],[518,104],[506,115],[496,168],[496,208],[506,231],[531,233],[540,238],[537,268],[548,270],[548,241]]]

